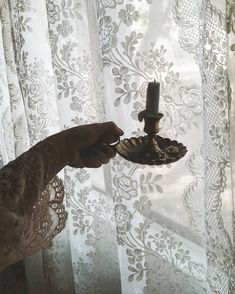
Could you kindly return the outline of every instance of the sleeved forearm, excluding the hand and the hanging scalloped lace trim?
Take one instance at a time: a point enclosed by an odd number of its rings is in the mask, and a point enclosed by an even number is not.
[[[41,196],[58,164],[57,150],[42,141],[0,170],[0,270],[46,246],[44,236],[31,244],[48,214],[49,197]]]

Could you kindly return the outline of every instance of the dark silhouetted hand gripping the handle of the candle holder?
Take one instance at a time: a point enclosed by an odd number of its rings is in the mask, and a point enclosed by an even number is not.
[[[47,140],[59,148],[64,165],[95,168],[116,155],[109,144],[117,142],[123,134],[114,122],[105,122],[73,127]]]

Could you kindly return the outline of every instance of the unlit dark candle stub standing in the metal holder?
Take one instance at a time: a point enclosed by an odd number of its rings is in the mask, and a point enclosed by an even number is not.
[[[152,114],[158,114],[160,98],[160,83],[150,82],[147,88],[146,110]]]

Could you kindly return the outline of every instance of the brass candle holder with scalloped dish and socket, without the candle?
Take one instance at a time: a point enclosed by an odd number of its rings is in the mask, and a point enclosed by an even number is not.
[[[123,139],[115,145],[117,153],[123,158],[140,164],[163,165],[175,162],[187,153],[187,148],[175,140],[156,135],[159,130],[162,113],[153,114],[147,109],[138,114],[139,121],[144,120],[146,136]]]

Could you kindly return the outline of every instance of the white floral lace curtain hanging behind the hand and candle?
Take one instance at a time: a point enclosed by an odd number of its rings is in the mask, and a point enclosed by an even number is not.
[[[76,125],[143,134],[153,79],[161,135],[189,150],[66,167],[66,228],[3,271],[1,293],[234,293],[234,0],[0,3],[1,165]]]

